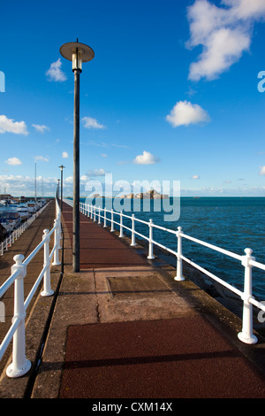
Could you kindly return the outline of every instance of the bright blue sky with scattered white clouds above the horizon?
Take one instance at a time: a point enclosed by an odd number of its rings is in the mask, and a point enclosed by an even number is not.
[[[1,4],[0,193],[72,196],[73,73],[87,183],[180,183],[181,196],[265,196],[265,0]],[[132,188],[133,191],[133,188]]]

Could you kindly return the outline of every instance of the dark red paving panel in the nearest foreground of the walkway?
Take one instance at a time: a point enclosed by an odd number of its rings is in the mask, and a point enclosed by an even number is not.
[[[200,316],[69,327],[61,398],[257,398],[265,382]]]

